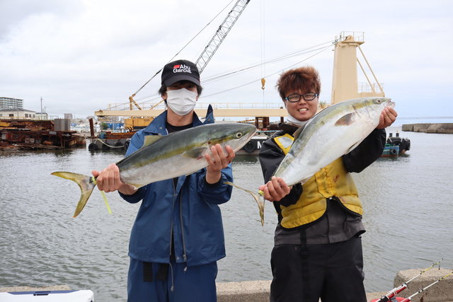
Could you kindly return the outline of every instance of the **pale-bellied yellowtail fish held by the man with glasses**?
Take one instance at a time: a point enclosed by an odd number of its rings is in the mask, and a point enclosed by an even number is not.
[[[382,110],[394,106],[390,98],[357,98],[319,112],[294,133],[291,149],[274,176],[285,180],[288,186],[304,184],[321,168],[355,149],[377,127]],[[233,184],[229,182],[229,185]],[[261,223],[264,223],[262,192],[245,191],[258,203]]]

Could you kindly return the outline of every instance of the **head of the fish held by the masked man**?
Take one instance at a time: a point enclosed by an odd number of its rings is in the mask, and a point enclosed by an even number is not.
[[[222,147],[228,145],[235,152],[241,149],[256,133],[253,124],[222,123],[217,124],[219,128],[212,132],[210,145],[220,144]]]

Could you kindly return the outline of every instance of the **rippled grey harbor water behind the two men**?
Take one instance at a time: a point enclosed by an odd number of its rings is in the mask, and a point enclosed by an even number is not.
[[[400,136],[411,139],[406,155],[380,158],[353,175],[365,207],[368,292],[393,288],[399,270],[429,267],[442,258],[442,267],[453,268],[453,135],[400,131]],[[95,190],[73,219],[79,187],[50,175],[57,170],[89,175],[122,156],[86,149],[0,153],[0,287],[67,284],[91,289],[96,301],[125,301],[127,245],[139,205],[109,193],[113,214],[108,214]],[[256,190],[263,183],[256,156],[237,156],[233,169],[241,187]],[[256,202],[239,190],[221,209],[227,255],[218,263],[217,281],[271,279],[272,204],[266,204],[265,226]]]

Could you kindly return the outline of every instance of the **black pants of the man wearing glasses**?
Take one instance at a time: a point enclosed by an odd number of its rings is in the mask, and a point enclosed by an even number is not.
[[[306,260],[302,260],[301,245],[273,248],[271,302],[367,301],[361,238],[306,248]]]

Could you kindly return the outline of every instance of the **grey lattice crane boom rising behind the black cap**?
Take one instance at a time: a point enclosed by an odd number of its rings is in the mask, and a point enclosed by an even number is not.
[[[217,51],[220,44],[222,44],[226,35],[228,35],[229,31],[233,27],[234,23],[236,23],[239,16],[241,16],[241,13],[243,12],[244,8],[246,8],[248,2],[250,2],[250,0],[238,0],[236,4],[234,4],[233,8],[231,8],[231,11],[229,11],[228,13],[228,16],[226,16],[225,20],[219,26],[210,42],[206,45],[205,50],[203,50],[203,52],[200,54],[200,57],[198,57],[197,61],[195,62],[200,74],[202,73],[203,69],[205,69],[207,63],[210,62],[210,59]]]

